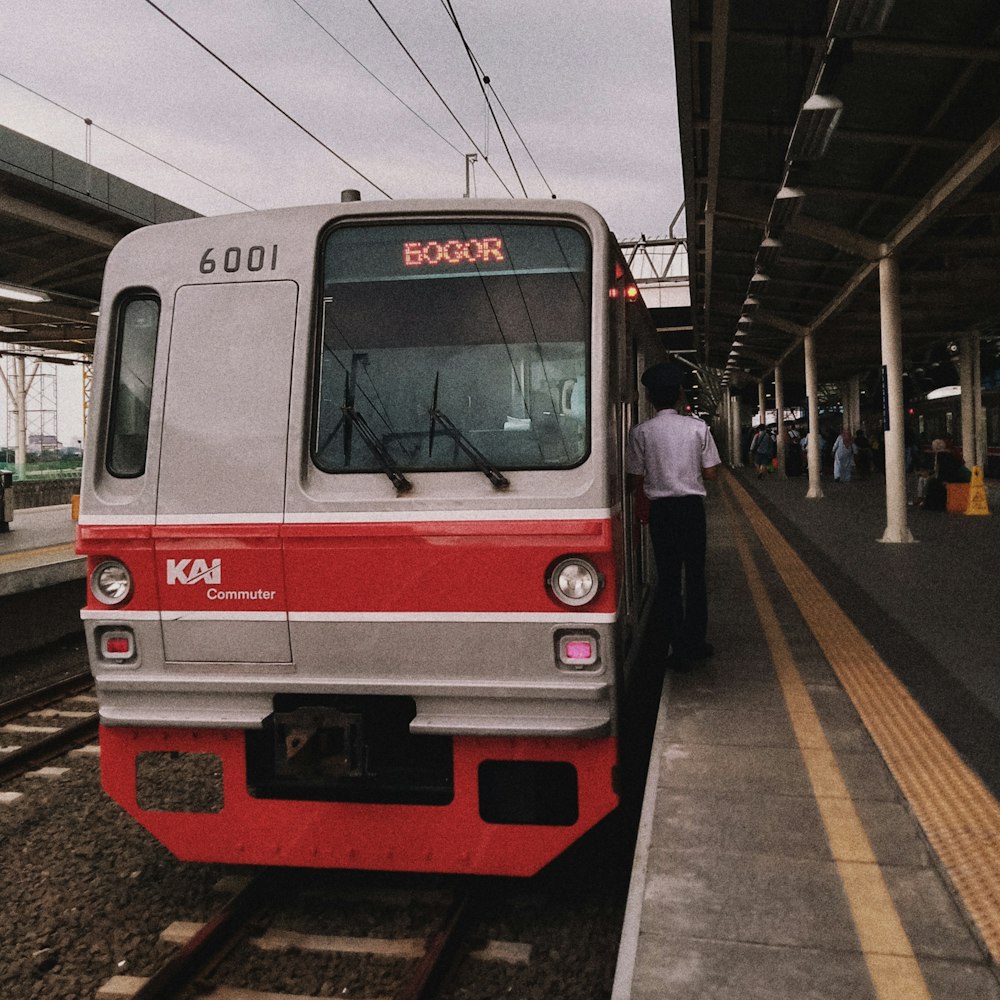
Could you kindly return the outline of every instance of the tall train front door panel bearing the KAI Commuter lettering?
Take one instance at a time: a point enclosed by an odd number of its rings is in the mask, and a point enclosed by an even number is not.
[[[291,281],[174,299],[154,546],[164,658],[289,663],[281,550]]]

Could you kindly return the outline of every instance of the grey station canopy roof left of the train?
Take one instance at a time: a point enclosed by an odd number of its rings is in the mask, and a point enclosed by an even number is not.
[[[0,343],[92,352],[111,248],[196,214],[0,127]]]

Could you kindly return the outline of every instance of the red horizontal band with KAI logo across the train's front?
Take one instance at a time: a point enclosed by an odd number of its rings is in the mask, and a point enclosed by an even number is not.
[[[586,556],[605,578],[580,610],[615,611],[614,526],[572,521],[81,525],[77,551],[120,558],[122,610],[313,613],[568,612],[551,564]],[[91,608],[100,608],[93,596]]]

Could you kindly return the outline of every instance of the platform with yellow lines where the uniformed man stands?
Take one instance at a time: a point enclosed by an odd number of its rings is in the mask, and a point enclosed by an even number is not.
[[[883,480],[823,488],[712,487],[613,1000],[1000,998],[1000,517],[885,545]]]

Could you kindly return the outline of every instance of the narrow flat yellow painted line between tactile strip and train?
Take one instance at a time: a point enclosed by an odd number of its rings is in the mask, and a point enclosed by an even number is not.
[[[913,946],[727,494],[725,500],[731,536],[805,761],[875,995],[878,1000],[930,1000]]]

